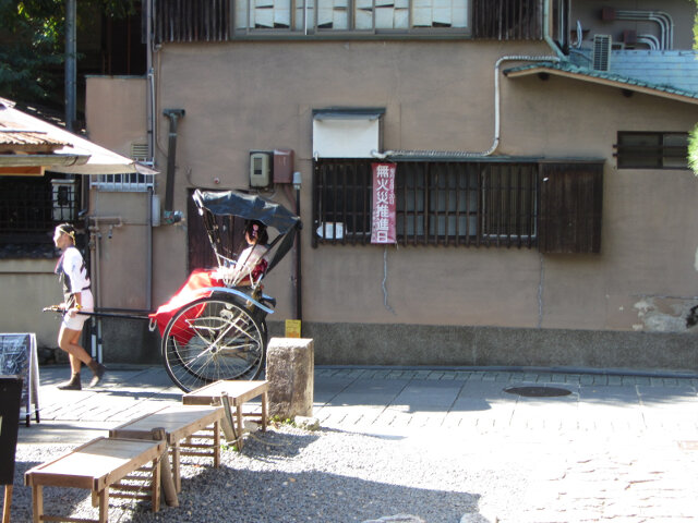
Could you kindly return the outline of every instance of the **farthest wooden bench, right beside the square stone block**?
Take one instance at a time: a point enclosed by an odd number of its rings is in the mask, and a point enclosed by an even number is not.
[[[196,389],[182,397],[184,405],[220,405],[224,397],[227,397],[236,410],[236,425],[238,448],[242,448],[242,405],[257,397],[262,397],[262,430],[266,430],[268,412],[268,390],[267,380],[219,380],[214,381],[201,389]],[[225,406],[225,405],[224,405]]]

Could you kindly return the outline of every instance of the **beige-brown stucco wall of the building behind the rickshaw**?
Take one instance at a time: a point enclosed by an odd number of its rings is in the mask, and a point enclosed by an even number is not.
[[[160,105],[186,110],[179,125],[176,206],[184,207],[186,185],[214,187],[218,178],[220,188],[246,186],[250,149],[289,147],[303,174],[302,217],[309,224],[312,109],[385,107],[386,149],[484,150],[493,139],[495,61],[504,54],[547,53],[543,45],[471,41],[164,46]],[[655,330],[663,327],[650,325],[647,312],[637,307],[664,308],[662,296],[678,300],[682,311],[695,304],[696,180],[688,171],[616,170],[613,144],[618,130],[687,131],[698,109],[565,78],[501,80],[497,154],[606,159],[601,255],[312,250],[306,228],[305,319]],[[165,146],[160,133],[159,149]],[[160,296],[184,277],[184,239],[181,228],[157,231]],[[281,318],[291,313],[287,270],[267,281],[281,297]],[[384,306],[385,276],[389,308]]]

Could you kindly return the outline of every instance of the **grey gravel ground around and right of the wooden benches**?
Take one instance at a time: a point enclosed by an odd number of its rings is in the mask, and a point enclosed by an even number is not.
[[[72,448],[17,446],[13,522],[32,521],[24,472]],[[255,433],[242,452],[224,447],[220,469],[212,467],[210,460],[183,458],[179,507],[163,504],[153,513],[149,502],[112,498],[109,521],[363,522],[395,514],[429,523],[507,521],[502,507],[516,512],[525,482],[521,471],[500,458],[485,460],[477,445],[465,440],[280,425]],[[46,487],[44,498],[51,513],[96,516],[85,490]],[[485,518],[485,510],[500,512]]]

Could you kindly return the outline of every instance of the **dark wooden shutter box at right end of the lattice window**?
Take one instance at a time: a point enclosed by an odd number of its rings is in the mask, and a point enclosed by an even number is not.
[[[541,253],[600,253],[603,163],[541,163]]]

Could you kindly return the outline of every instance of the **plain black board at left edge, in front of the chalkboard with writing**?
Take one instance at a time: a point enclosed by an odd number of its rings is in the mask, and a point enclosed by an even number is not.
[[[22,389],[22,378],[0,376],[0,485],[12,485],[14,478]]]

